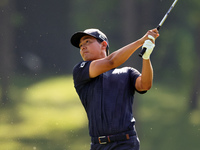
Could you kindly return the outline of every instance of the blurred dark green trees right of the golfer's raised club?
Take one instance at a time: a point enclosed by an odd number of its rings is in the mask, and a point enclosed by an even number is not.
[[[198,0],[179,1],[161,28],[157,52],[153,53],[159,62],[155,66],[158,81],[171,84],[176,92],[187,90],[189,109],[198,107],[200,90],[199,7]]]

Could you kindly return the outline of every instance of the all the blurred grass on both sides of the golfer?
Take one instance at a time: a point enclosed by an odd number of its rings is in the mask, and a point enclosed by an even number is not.
[[[183,93],[155,84],[137,95],[142,150],[199,149],[200,110],[188,111]],[[15,78],[9,97],[12,103],[0,108],[0,149],[90,149],[86,113],[71,76]]]

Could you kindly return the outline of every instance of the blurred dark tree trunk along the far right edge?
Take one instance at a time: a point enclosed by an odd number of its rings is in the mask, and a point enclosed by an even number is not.
[[[188,24],[192,28],[193,33],[193,41],[194,41],[194,48],[189,49],[189,51],[193,51],[196,57],[192,57],[195,61],[195,67],[193,71],[190,73],[190,78],[192,79],[192,87],[190,89],[190,97],[189,97],[189,106],[190,109],[197,109],[198,108],[198,99],[200,93],[200,1],[199,0],[192,0],[190,1],[190,5],[188,5],[190,9],[190,13],[187,14]],[[190,56],[190,55],[189,55]],[[188,57],[189,57],[188,56]]]

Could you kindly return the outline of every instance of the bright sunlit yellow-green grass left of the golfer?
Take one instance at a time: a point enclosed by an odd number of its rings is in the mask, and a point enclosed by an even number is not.
[[[0,110],[0,149],[75,150],[89,143],[87,118],[71,76],[15,85],[11,93],[17,102]],[[73,142],[76,138],[80,144]]]

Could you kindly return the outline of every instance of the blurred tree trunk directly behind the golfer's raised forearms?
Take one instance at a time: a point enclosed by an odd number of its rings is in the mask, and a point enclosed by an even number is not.
[[[137,8],[139,6],[139,1],[132,0],[120,0],[120,20],[119,25],[121,26],[121,43],[126,45],[128,43],[134,42],[139,38],[141,28],[140,17],[141,14],[137,13]],[[141,58],[137,55],[132,55],[130,59],[127,60],[125,65],[138,67],[141,66]]]

